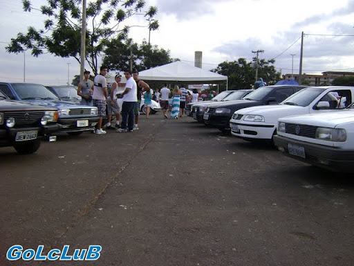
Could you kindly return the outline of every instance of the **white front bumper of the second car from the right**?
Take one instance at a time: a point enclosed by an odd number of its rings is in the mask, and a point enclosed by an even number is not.
[[[277,127],[272,124],[259,123],[236,123],[230,121],[231,134],[241,139],[264,139],[270,140],[277,130]]]

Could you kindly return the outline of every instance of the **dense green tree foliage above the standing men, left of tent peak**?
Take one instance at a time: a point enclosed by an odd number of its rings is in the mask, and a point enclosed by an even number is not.
[[[157,45],[151,46],[145,40],[139,45],[133,43],[132,39],[127,39],[126,42],[111,39],[106,45],[103,64],[110,70],[130,69],[130,60],[132,60],[132,69],[138,71],[174,62],[169,55],[169,50],[158,48]]]

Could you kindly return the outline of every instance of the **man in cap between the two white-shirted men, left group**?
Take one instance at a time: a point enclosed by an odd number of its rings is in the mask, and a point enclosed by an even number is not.
[[[119,120],[120,120],[120,107],[117,103],[117,93],[118,93],[118,84],[122,80],[122,76],[120,74],[115,75],[115,82],[112,83],[111,93],[107,97],[107,130],[115,130],[119,128]],[[111,125],[112,112],[115,114],[115,128]]]

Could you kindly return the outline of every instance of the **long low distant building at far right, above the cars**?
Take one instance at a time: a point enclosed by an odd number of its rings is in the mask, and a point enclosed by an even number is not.
[[[283,80],[292,80],[292,76],[299,82],[299,74],[285,74],[283,75]],[[301,79],[303,82],[309,82],[310,86],[326,86],[332,85],[335,78],[344,76],[354,76],[354,72],[326,71],[322,72],[322,75],[308,75],[305,73],[301,75]]]

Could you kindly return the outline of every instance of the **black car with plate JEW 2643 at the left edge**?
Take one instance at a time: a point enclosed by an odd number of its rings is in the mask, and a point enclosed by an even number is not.
[[[0,147],[20,154],[36,152],[41,139],[59,130],[55,108],[10,100],[0,91]]]

